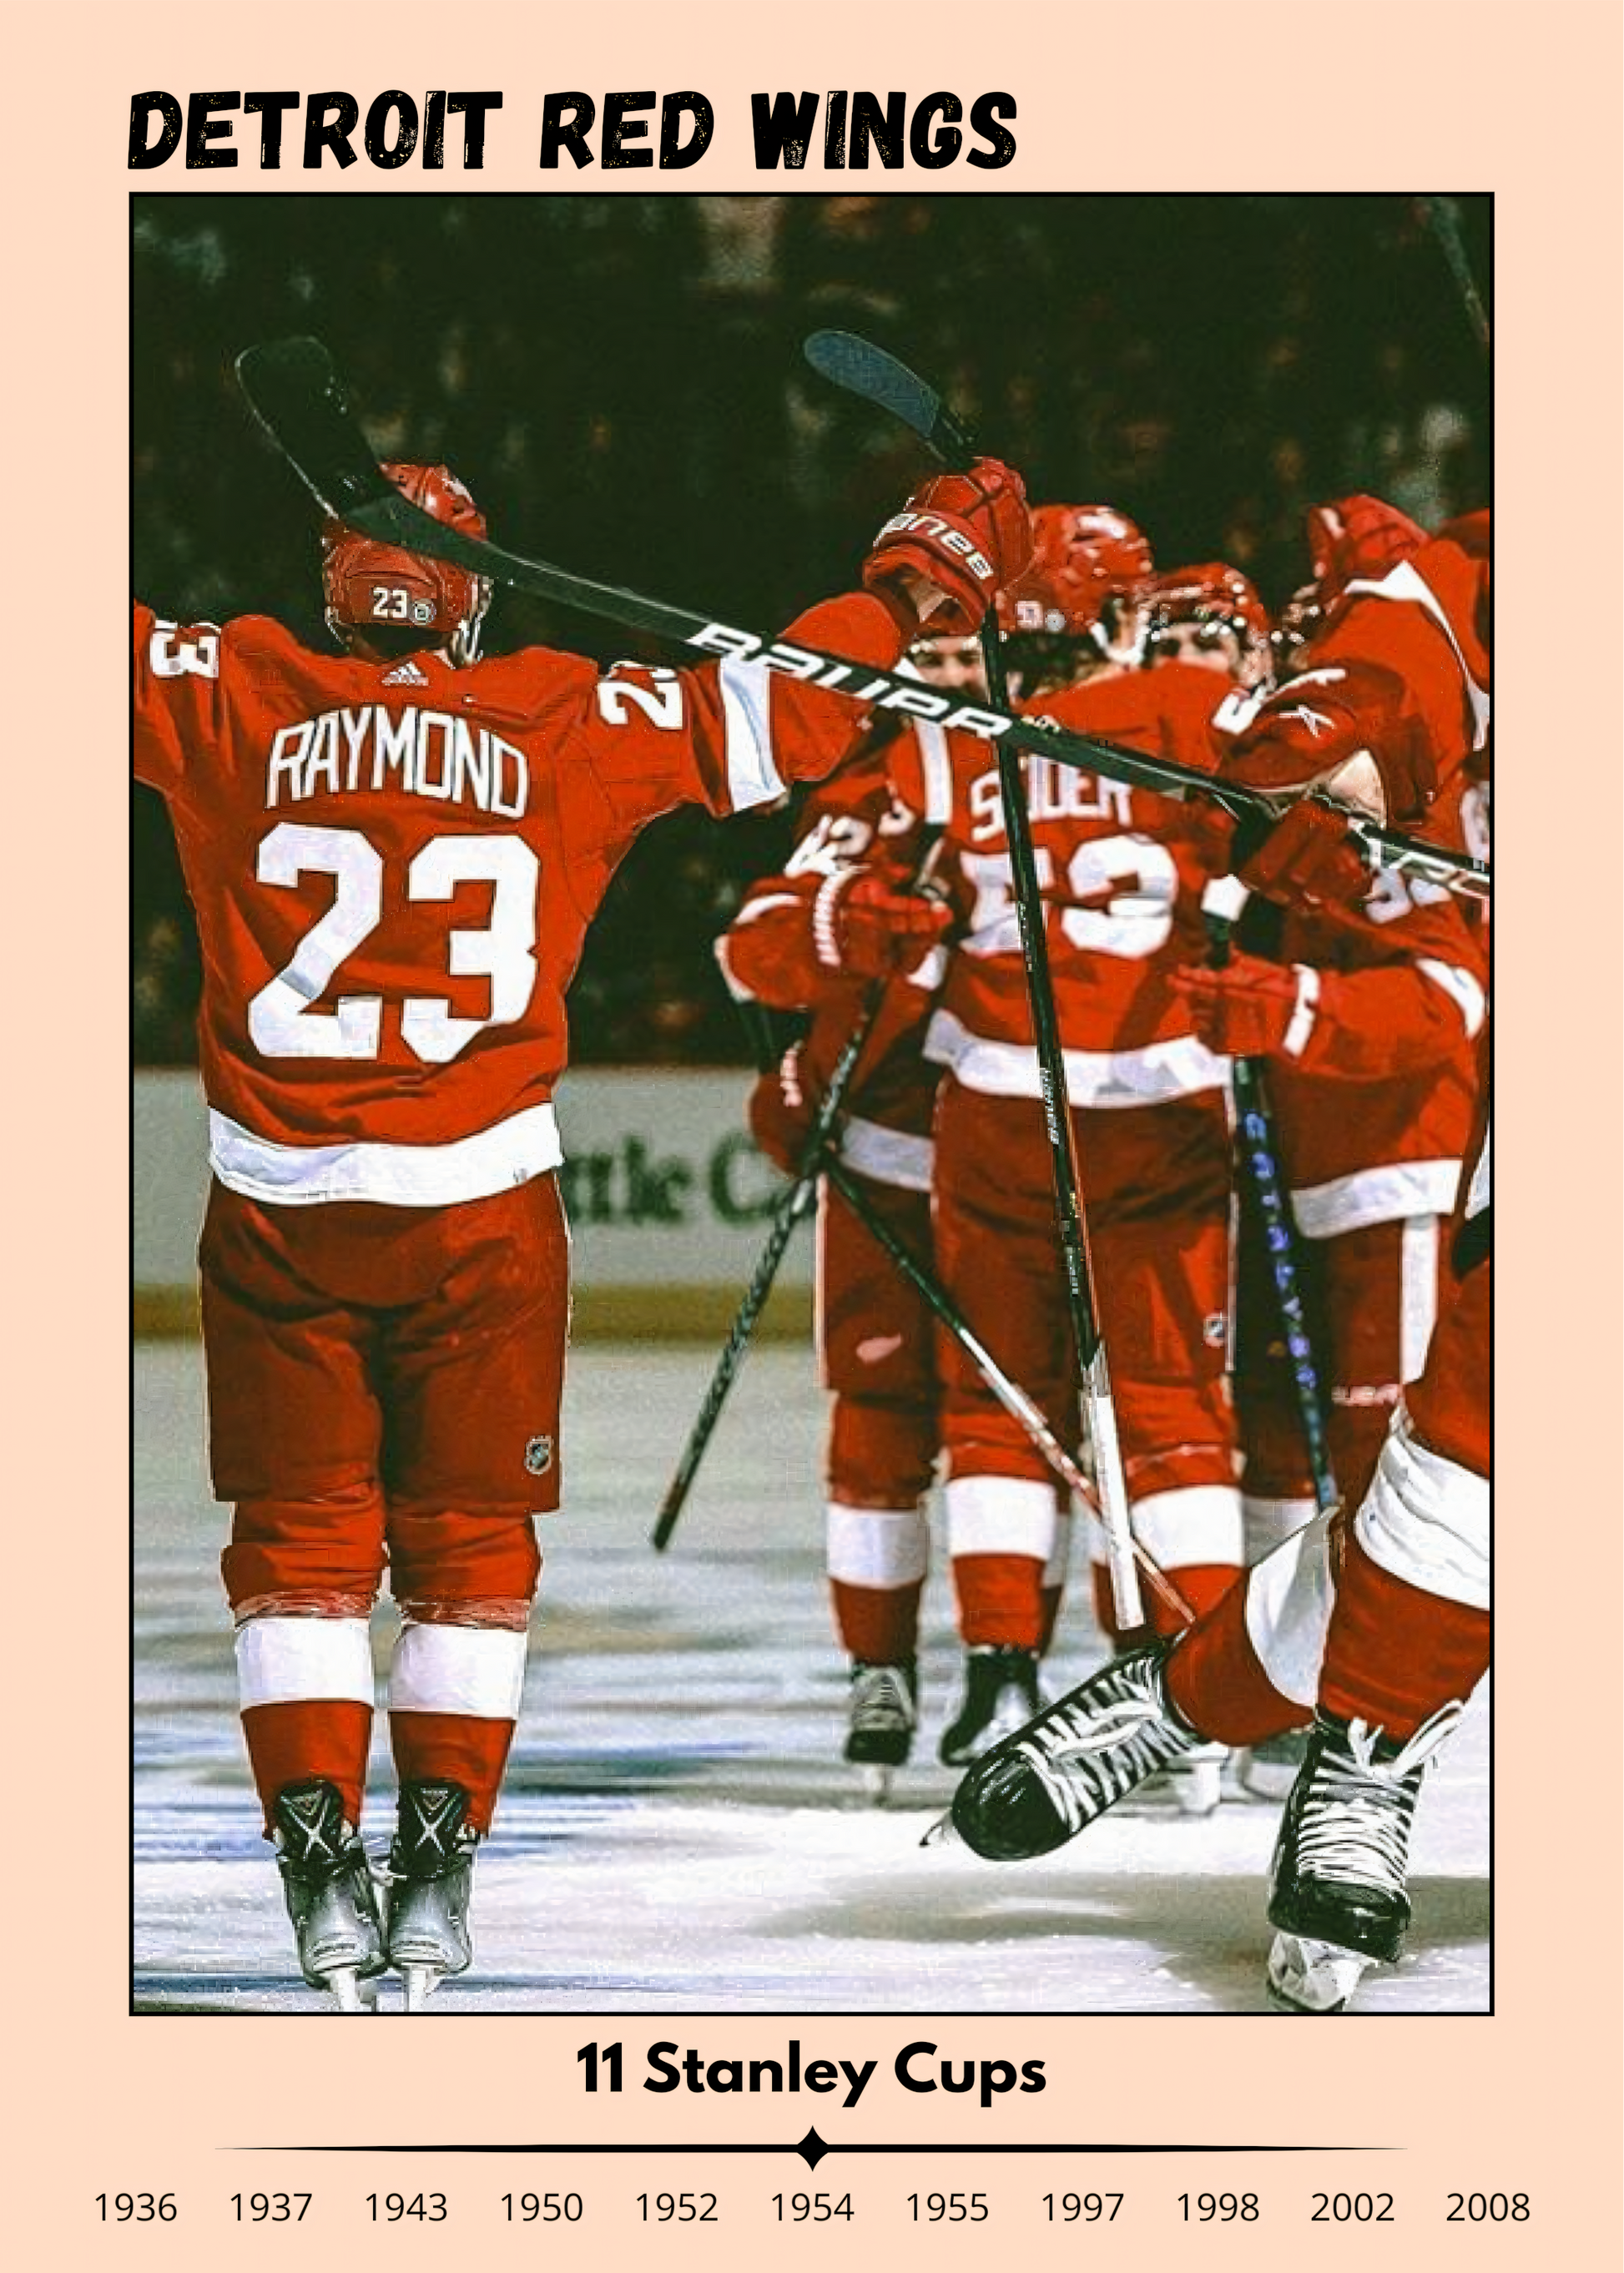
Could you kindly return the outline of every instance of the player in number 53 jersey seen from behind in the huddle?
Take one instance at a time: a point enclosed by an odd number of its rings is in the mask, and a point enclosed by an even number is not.
[[[1215,652],[1226,643],[1231,668],[1242,652],[1251,659],[1267,639],[1256,621],[1262,611],[1249,586],[1228,577],[1180,571],[1149,586],[1140,580],[1151,636],[1180,636],[1196,618],[1199,632],[1215,634]],[[1256,618],[1237,609],[1240,598]],[[1062,591],[1051,611],[1067,616]],[[1187,659],[1158,671],[1085,664],[1083,680],[1067,684],[1085,641],[1074,625],[1069,655],[1058,657],[1053,636],[1037,659],[1010,643],[1026,709],[1212,764],[1210,718],[1224,686],[1208,668]],[[1060,684],[1042,684],[1055,668]],[[926,1041],[926,1055],[946,1068],[937,1259],[948,1293],[1003,1368],[1062,1434],[1076,1434],[1053,1171],[996,766],[962,734],[944,736],[944,755],[951,818],[937,875],[953,900],[955,936]],[[1242,1562],[1226,1389],[1226,1073],[1171,986],[1203,936],[1205,832],[1167,798],[1042,757],[1028,759],[1026,784],[1133,1523],[1185,1600],[1201,1607]],[[903,786],[903,796],[919,805],[923,789]],[[973,1637],[964,1712],[942,1746],[958,1764],[985,1750],[1010,1707],[1035,1709],[1037,1575],[1060,1509],[1042,1455],[980,1373],[955,1346],[944,1346],[942,1364],[948,1543]],[[1153,1616],[1162,1616],[1160,1605]],[[1217,1755],[1190,1764],[1180,1800],[1215,1805],[1217,1773]]]

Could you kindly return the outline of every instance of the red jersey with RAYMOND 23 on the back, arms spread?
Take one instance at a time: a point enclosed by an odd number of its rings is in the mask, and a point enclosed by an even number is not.
[[[792,636],[876,664],[901,648],[869,596]],[[221,1180],[439,1205],[555,1166],[564,993],[637,832],[778,800],[860,718],[748,661],[378,664],[136,605],[134,771],[168,800],[198,916]]]

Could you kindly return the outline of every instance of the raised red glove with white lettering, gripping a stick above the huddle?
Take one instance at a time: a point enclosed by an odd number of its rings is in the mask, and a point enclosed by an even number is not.
[[[1026,484],[996,457],[969,473],[937,473],[892,514],[869,548],[862,582],[901,586],[908,607],[933,632],[978,632],[1005,584],[1033,557]],[[908,577],[923,577],[935,598],[919,600]]]

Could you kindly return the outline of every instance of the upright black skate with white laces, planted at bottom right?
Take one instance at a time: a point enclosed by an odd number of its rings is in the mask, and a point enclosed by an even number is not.
[[[1347,2012],[1372,1964],[1403,1955],[1410,1818],[1458,1718],[1444,1705],[1394,1743],[1365,1721],[1315,1716],[1274,1848],[1269,1998],[1283,2012]]]

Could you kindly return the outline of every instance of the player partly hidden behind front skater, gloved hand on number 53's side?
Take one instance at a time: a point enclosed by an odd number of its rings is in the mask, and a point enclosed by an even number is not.
[[[1378,498],[1340,498],[1310,509],[1308,543],[1312,611],[1324,616],[1351,582],[1419,550],[1426,532]],[[1290,673],[1310,666],[1312,646],[1287,659]],[[1435,814],[1433,834],[1460,843],[1458,818]],[[1358,1507],[1437,1312],[1472,1130],[1485,941],[1463,900],[1399,871],[1374,877],[1353,907],[1253,902],[1246,923],[1258,952],[1192,966],[1178,984],[1212,1050],[1265,1066],[1326,1375],[1328,1466]],[[1315,1484],[1285,1350],[1265,1325],[1276,1298],[1246,1207],[1242,1225],[1251,1237],[1240,1248],[1235,1398],[1246,1562],[1258,1562],[1310,1521]],[[1240,1773],[1278,1798],[1299,1764],[1301,1741],[1281,1739]]]

